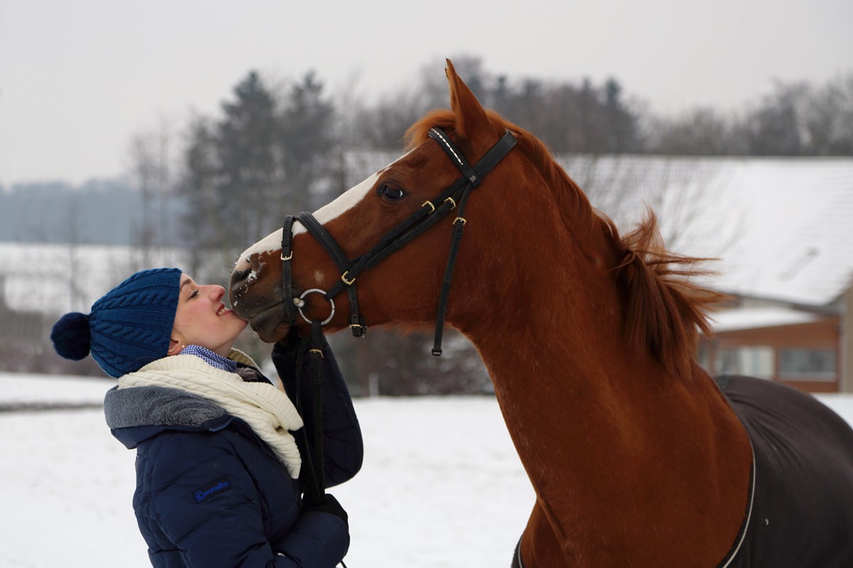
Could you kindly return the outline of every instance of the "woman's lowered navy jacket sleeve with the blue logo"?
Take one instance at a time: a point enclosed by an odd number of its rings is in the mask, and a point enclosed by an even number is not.
[[[191,568],[337,565],[349,548],[349,531],[334,514],[301,515],[280,542],[267,541],[263,498],[229,435],[236,434],[223,430],[168,436],[148,458],[150,499],[145,507],[150,517],[140,516],[140,524],[153,522]],[[281,491],[293,492],[287,487]],[[299,507],[295,494],[287,498]]]

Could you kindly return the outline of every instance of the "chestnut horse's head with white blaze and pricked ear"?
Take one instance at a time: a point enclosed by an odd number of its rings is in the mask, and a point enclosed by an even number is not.
[[[453,159],[454,152],[461,152],[461,158],[467,158],[475,168],[478,162],[497,141],[507,135],[507,129],[496,114],[487,112],[479,105],[467,85],[461,81],[448,61],[447,77],[450,85],[450,111],[435,111],[415,123],[407,138],[409,152],[352,187],[339,198],[318,209],[314,214],[322,230],[328,233],[330,240],[339,246],[342,256],[347,260],[363,257],[368,251],[376,250],[376,245],[392,232],[395,227],[415,217],[411,227],[400,232],[398,243],[418,233],[405,246],[397,250],[393,244],[393,254],[381,261],[367,263],[367,267],[357,273],[357,304],[367,324],[422,324],[435,320],[438,307],[438,292],[442,287],[444,267],[450,250],[452,227],[456,221],[458,194],[444,201],[443,193],[450,186],[459,185],[461,167]],[[439,136],[445,136],[450,142],[443,146],[438,139],[430,137],[428,131],[438,128]],[[512,138],[512,135],[508,135]],[[511,146],[510,146],[511,147]],[[508,150],[508,149],[507,149]],[[505,152],[504,152],[505,153]],[[491,177],[506,180],[511,173],[505,164],[497,164],[502,169]],[[486,180],[484,187],[477,192],[488,192]],[[479,181],[478,181],[479,183]],[[442,196],[443,201],[436,199]],[[456,197],[456,201],[454,201]],[[472,209],[489,207],[488,203],[472,205]],[[434,224],[429,217],[439,209],[454,209]],[[472,213],[473,214],[473,213]],[[282,215],[282,220],[284,215]],[[508,212],[505,229],[513,225]],[[483,223],[490,227],[467,228],[467,232],[478,230],[499,231],[495,226],[494,215]],[[427,228],[428,227],[428,228]],[[420,234],[422,231],[422,234]],[[264,341],[276,341],[287,333],[289,324],[285,302],[290,296],[297,298],[306,290],[329,290],[345,288],[343,278],[351,278],[329,255],[314,231],[306,231],[305,222],[296,221],[293,225],[292,258],[282,260],[282,231],[252,245],[238,259],[231,277],[230,297],[235,312],[247,318],[252,329]],[[287,234],[287,233],[285,233]],[[289,240],[289,239],[288,239]],[[333,245],[334,246],[334,245]],[[287,244],[286,244],[287,248]],[[386,255],[388,251],[383,252]],[[476,266],[476,250],[461,247],[457,278],[462,280],[464,273]],[[292,295],[282,291],[282,267],[290,263],[293,283]],[[287,278],[287,276],[285,276]],[[456,284],[454,289],[456,290]],[[335,312],[327,324],[327,330],[340,330],[351,321],[351,295],[339,293],[334,296]],[[326,319],[331,306],[320,293],[309,293],[304,297],[302,313],[305,318]],[[451,313],[462,309],[464,301],[454,296]],[[299,314],[295,323],[305,324]]]

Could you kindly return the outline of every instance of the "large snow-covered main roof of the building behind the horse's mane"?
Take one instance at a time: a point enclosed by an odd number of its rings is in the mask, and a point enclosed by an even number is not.
[[[853,158],[559,161],[621,231],[647,204],[670,250],[719,258],[717,290],[823,306],[853,285]]]

